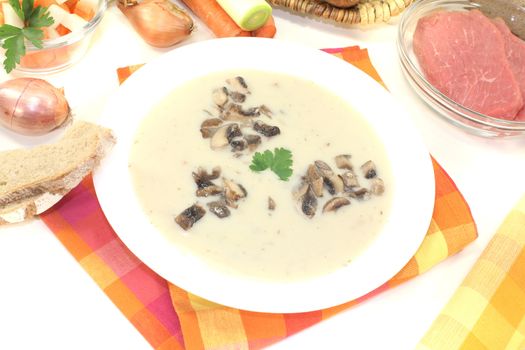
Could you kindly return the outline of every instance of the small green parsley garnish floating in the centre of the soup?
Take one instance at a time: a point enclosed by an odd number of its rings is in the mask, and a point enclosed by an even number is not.
[[[292,152],[281,147],[275,148],[273,153],[270,150],[255,152],[250,169],[259,172],[269,168],[279,179],[288,181],[293,173],[292,165]]]

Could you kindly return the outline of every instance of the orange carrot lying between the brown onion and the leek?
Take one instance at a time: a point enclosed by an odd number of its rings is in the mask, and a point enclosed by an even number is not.
[[[182,0],[218,38],[250,36],[242,30],[215,0]]]

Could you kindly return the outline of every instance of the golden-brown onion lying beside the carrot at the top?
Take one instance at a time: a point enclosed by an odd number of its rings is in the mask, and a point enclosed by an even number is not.
[[[151,46],[175,45],[193,31],[191,17],[169,0],[119,0],[118,8]]]

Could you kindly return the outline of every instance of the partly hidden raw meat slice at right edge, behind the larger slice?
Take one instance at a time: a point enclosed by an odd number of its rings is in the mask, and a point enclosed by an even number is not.
[[[510,28],[501,18],[496,18],[493,22],[503,34],[510,69],[518,81],[521,96],[525,99],[525,41],[512,34]],[[518,111],[516,120],[525,121],[525,106]]]

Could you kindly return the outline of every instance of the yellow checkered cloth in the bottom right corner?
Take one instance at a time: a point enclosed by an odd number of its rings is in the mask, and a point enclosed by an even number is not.
[[[525,196],[417,349],[525,349]]]

